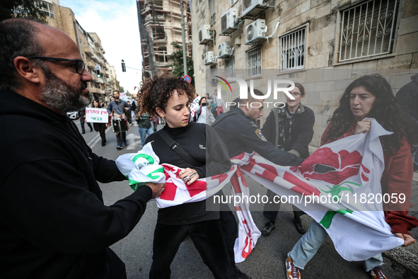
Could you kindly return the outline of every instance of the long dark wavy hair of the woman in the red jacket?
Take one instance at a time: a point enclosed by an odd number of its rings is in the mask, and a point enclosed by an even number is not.
[[[392,135],[381,136],[383,150],[395,152],[400,149],[400,139],[406,137],[410,144],[417,142],[417,133],[414,131],[409,117],[397,103],[397,99],[390,88],[390,84],[380,74],[361,76],[353,81],[339,100],[339,107],[327,120],[329,130],[325,140],[336,140],[341,137],[356,121],[350,107],[350,93],[355,87],[364,86],[368,92],[376,97],[368,117],[375,118],[385,130],[393,132]]]

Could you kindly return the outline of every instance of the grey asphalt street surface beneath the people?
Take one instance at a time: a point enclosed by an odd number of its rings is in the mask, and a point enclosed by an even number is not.
[[[79,120],[74,123],[80,129]],[[134,123],[134,121],[133,121]],[[162,126],[159,126],[161,128]],[[122,150],[116,149],[116,137],[112,132],[112,128],[106,132],[108,143],[105,147],[100,146],[100,136],[98,132],[89,132],[86,126],[86,134],[83,135],[88,145],[93,149],[95,154],[108,159],[117,159],[118,156],[126,153],[136,153],[140,149],[140,137],[138,127],[130,126],[127,132],[127,141],[129,146]],[[192,140],[192,139],[191,139]],[[259,183],[255,183],[250,178],[246,178],[250,190],[264,193],[265,190]],[[117,183],[100,183],[103,190],[103,198],[106,205],[112,205],[127,195],[132,194],[132,189],[127,182]],[[141,218],[134,230],[124,239],[113,244],[111,248],[120,256],[126,264],[128,278],[148,278],[149,269],[152,263],[152,242],[153,229],[156,224],[158,207],[151,200],[147,206],[144,216]],[[257,208],[257,210],[262,210]],[[293,212],[290,205],[282,205],[279,216],[277,217],[276,229],[269,237],[261,236],[257,241],[257,245],[252,253],[243,263],[237,266],[241,271],[255,278],[286,278],[286,269],[284,261],[286,254],[293,248],[294,244],[301,237],[296,232],[293,223]],[[261,211],[253,211],[252,218],[259,229],[262,229],[266,220],[262,216]],[[308,229],[312,219],[308,215],[302,217],[303,225]],[[385,259],[383,273],[388,278],[416,278],[414,274],[402,268],[398,263]],[[204,265],[195,246],[190,238],[187,238],[180,246],[178,254],[175,256],[171,264],[173,279],[199,278],[209,279],[213,275],[209,268]],[[362,262],[345,261],[334,248],[332,241],[327,239],[325,244],[321,246],[318,253],[308,263],[305,270],[301,271],[302,278],[371,278],[364,271]]]

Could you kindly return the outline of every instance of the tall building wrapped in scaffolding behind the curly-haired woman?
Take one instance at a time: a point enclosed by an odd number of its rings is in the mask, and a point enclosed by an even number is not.
[[[189,3],[189,1],[183,2],[183,16],[186,53],[188,57],[191,57],[192,45],[190,39],[192,34]],[[139,30],[143,56],[143,78],[149,77],[151,70],[154,70],[155,73],[166,69],[172,70],[172,67],[170,67],[170,64],[173,64],[171,54],[175,51],[172,42],[182,45],[180,0],[139,0],[137,5],[140,12]],[[150,47],[152,51],[149,51]],[[151,64],[154,65],[154,69],[151,69]]]

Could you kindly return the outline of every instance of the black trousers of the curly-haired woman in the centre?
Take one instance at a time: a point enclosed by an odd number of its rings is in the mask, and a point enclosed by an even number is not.
[[[190,236],[204,264],[214,278],[236,278],[226,251],[219,220],[194,224],[156,225],[153,239],[153,263],[149,278],[169,279],[170,265],[182,241]]]

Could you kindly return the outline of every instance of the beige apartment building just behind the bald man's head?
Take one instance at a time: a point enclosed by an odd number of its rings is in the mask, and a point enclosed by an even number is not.
[[[62,30],[79,46],[86,69],[93,76],[93,81],[88,83],[88,90],[93,93],[94,98],[101,102],[109,101],[110,74],[104,57],[105,50],[98,35],[86,32],[71,8],[60,6],[59,0],[35,1],[35,4],[44,11],[48,25]]]

